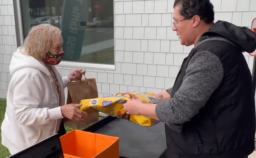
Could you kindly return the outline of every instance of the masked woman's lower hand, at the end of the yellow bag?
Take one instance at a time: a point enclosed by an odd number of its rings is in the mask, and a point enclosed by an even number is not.
[[[61,106],[62,116],[70,120],[83,122],[84,119],[87,118],[87,113],[78,109],[81,105],[82,104],[66,104]]]

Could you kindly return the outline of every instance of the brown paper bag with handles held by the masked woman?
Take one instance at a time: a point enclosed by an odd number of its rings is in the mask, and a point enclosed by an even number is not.
[[[82,79],[68,83],[68,98],[67,104],[79,104],[83,99],[98,98],[98,90],[95,79]],[[99,112],[91,113],[83,122],[64,118],[64,124],[80,130],[81,128],[99,120]]]

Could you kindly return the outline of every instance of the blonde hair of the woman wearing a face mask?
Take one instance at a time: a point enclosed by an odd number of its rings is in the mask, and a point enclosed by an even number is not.
[[[59,28],[50,24],[34,26],[24,40],[25,53],[39,61],[43,61],[51,42],[60,40],[63,41]]]

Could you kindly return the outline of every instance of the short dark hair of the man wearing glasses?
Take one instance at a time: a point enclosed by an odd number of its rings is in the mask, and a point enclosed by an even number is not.
[[[175,0],[173,8],[177,5],[181,5],[180,14],[184,18],[198,15],[207,24],[214,21],[214,10],[210,0]]]

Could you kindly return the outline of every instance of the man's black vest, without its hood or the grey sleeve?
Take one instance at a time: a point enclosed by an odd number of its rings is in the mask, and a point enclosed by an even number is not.
[[[251,72],[238,47],[223,41],[205,41],[184,59],[171,98],[182,84],[190,59],[209,51],[220,59],[224,76],[219,87],[182,132],[165,125],[167,158],[242,158],[254,150],[255,99]]]

